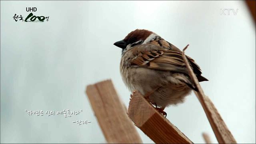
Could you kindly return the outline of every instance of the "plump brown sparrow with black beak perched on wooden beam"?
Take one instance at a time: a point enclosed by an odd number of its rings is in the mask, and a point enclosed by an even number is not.
[[[125,86],[131,92],[138,90],[163,115],[167,115],[166,107],[183,103],[192,90],[198,91],[182,51],[158,34],[136,29],[114,45],[122,48],[120,73]],[[189,56],[186,58],[198,81],[208,81],[198,64]]]

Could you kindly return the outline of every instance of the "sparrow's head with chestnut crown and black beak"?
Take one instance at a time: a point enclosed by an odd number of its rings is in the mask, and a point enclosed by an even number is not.
[[[127,50],[140,44],[150,43],[156,38],[160,38],[160,36],[154,32],[149,30],[136,29],[130,32],[123,40],[115,42],[114,45],[122,48],[122,51],[124,51],[125,49]]]

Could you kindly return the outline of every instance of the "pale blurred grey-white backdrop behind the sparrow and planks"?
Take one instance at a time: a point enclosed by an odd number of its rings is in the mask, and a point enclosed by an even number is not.
[[[14,14],[49,16],[15,21]],[[238,9],[221,15],[220,9]],[[112,79],[128,107],[121,49],[113,43],[137,28],[183,49],[210,81],[201,86],[238,143],[255,143],[255,23],[244,1],[1,1],[1,143],[104,143],[88,84]],[[64,118],[57,111],[82,110]],[[42,110],[29,116],[25,110]],[[55,115],[48,116],[47,110]],[[192,142],[217,140],[198,99],[166,108]],[[76,120],[91,123],[78,125]],[[154,143],[136,128],[144,143]]]

